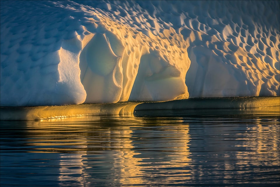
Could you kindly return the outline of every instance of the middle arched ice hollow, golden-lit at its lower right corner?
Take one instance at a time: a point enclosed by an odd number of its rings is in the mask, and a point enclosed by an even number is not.
[[[130,101],[169,101],[188,98],[181,71],[161,58],[156,51],[141,57]]]

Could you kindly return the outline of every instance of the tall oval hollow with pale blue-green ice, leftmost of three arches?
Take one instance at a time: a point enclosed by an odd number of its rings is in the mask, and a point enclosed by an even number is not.
[[[80,54],[80,77],[87,93],[85,103],[114,103],[120,100],[121,57],[114,53],[107,35],[110,34],[95,34]],[[120,41],[114,41],[120,45]]]

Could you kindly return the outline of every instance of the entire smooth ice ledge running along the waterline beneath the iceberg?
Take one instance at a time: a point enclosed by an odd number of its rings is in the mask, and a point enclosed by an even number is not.
[[[62,117],[133,115],[140,110],[279,107],[280,97],[190,98],[167,102],[118,102],[66,106],[1,107],[0,120],[44,120]],[[137,113],[138,114],[138,113]]]

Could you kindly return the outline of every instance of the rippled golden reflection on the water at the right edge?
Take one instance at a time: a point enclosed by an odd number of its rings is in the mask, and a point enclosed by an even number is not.
[[[276,110],[269,112],[267,108],[264,108],[264,110],[259,108],[257,113],[261,112],[260,116],[279,116],[279,108],[276,107],[274,109]],[[267,121],[269,121],[271,125],[267,125]],[[235,171],[240,176],[246,176],[249,172],[247,168],[254,168],[254,172],[263,173],[263,175],[256,177],[269,179],[269,176],[265,175],[267,172],[266,170],[268,170],[266,167],[279,167],[279,117],[278,119],[271,118],[267,121],[264,122],[260,117],[250,119],[250,123],[254,123],[254,125],[246,126],[244,133],[240,134],[239,138],[235,138],[235,141],[239,141],[239,144],[235,145],[239,151],[237,150],[234,155],[234,165],[232,164],[233,159],[225,159],[224,183],[232,179],[232,171]],[[225,158],[226,157],[230,158],[232,155],[227,154],[225,155]],[[244,183],[244,179],[236,180],[235,182],[241,184]]]

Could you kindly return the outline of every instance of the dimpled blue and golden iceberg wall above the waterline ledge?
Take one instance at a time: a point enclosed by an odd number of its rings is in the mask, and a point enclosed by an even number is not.
[[[0,1],[1,106],[279,93],[279,1]]]

